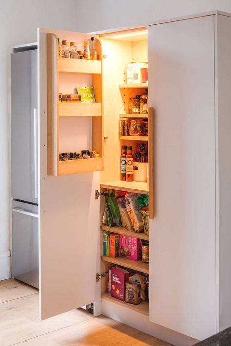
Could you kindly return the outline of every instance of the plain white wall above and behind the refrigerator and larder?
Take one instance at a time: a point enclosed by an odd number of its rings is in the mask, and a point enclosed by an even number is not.
[[[220,10],[231,0],[0,0],[0,280],[10,277],[10,48],[36,41],[37,27],[94,32]]]

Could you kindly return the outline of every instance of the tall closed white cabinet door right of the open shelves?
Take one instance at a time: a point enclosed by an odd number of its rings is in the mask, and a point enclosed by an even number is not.
[[[213,16],[150,26],[148,40],[150,319],[204,339],[216,332]]]

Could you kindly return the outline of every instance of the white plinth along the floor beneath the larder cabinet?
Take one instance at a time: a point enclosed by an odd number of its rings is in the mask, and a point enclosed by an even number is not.
[[[109,302],[106,299],[101,299],[101,303],[103,315],[164,340],[171,345],[192,346],[198,342],[198,340],[150,322],[147,315],[121,307],[121,305]]]

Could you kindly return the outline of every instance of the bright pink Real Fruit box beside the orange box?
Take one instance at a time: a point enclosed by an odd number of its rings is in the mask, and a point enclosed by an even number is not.
[[[141,259],[141,241],[132,236],[120,235],[119,255],[134,261]]]

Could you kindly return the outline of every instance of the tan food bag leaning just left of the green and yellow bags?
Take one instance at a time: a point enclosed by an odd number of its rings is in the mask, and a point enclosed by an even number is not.
[[[136,193],[128,193],[125,195],[126,200],[126,209],[129,215],[129,218],[131,219],[133,228],[135,232],[140,233],[143,231],[143,221],[142,221],[142,215],[140,213],[141,207],[138,203],[136,203],[136,200],[138,198],[138,194]]]

